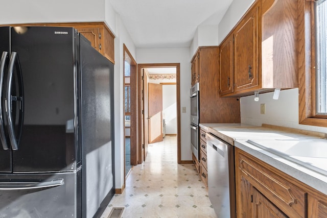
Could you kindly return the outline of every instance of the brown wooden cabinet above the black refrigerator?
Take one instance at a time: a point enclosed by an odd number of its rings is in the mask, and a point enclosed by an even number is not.
[[[114,35],[104,22],[24,23],[9,26],[74,27],[98,52],[114,64]]]

